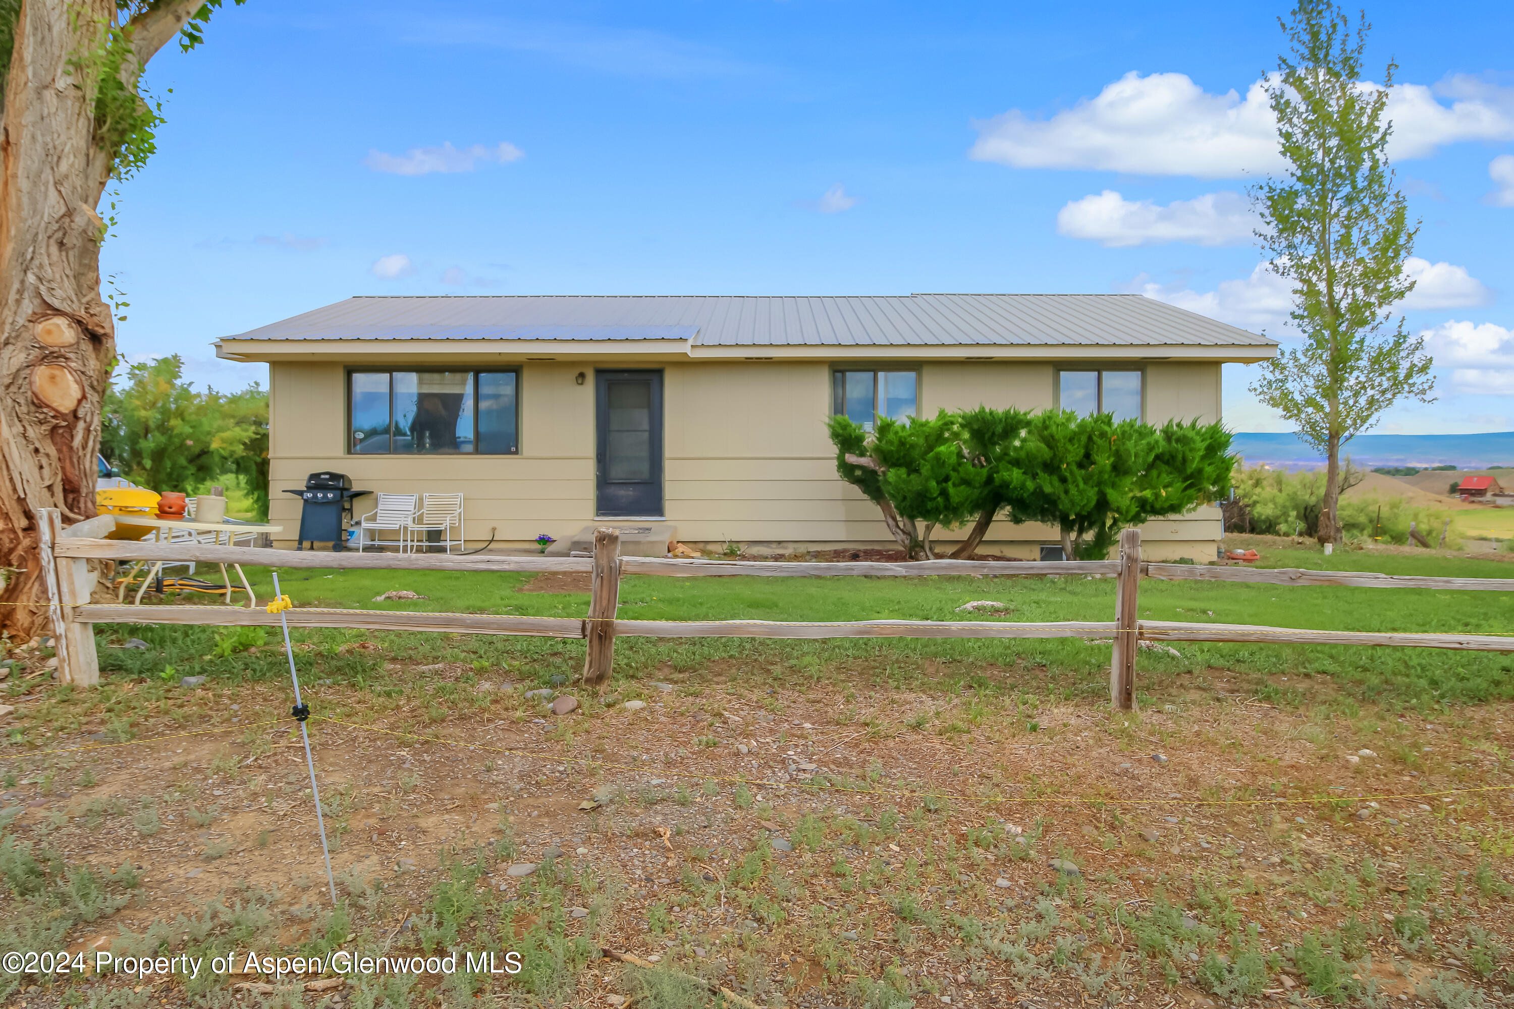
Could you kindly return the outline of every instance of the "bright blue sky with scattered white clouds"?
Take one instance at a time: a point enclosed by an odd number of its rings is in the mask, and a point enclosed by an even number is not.
[[[266,381],[210,342],[356,293],[1136,290],[1287,339],[1237,195],[1281,11],[250,0],[148,68],[121,349]],[[1440,395],[1378,430],[1514,428],[1514,9],[1369,14]]]

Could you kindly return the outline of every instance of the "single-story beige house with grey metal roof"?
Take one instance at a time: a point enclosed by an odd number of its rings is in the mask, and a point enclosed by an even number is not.
[[[269,365],[283,545],[301,505],[282,492],[336,470],[366,490],[462,492],[469,546],[666,522],[684,543],[774,552],[893,546],[836,475],[833,411],[1216,421],[1220,365],[1275,352],[1142,295],[362,296],[217,342]],[[1213,557],[1220,513],[1143,532],[1151,558]],[[1057,542],[999,522],[981,549],[1034,558]]]

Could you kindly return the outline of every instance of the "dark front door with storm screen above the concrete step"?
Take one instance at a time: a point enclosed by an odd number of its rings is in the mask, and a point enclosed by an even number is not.
[[[598,514],[651,519],[662,502],[662,372],[595,372]]]

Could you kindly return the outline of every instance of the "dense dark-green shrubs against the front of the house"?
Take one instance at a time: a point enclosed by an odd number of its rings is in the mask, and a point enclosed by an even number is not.
[[[998,514],[1055,526],[1069,557],[1107,557],[1119,529],[1182,514],[1229,492],[1219,425],[1155,428],[1110,414],[977,410],[880,419],[869,436],[828,422],[836,470],[878,504],[911,558],[934,557],[936,526],[974,522],[952,557],[970,557]]]

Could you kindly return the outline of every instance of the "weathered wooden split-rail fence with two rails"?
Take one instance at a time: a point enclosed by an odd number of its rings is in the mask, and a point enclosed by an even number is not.
[[[180,623],[212,626],[274,626],[279,614],[230,605],[100,605],[89,602],[95,584],[91,561],[164,561],[257,564],[298,569],[385,569],[448,572],[574,572],[590,575],[587,617],[513,617],[472,613],[397,613],[385,610],[294,608],[283,616],[295,628],[365,628],[372,631],[444,631],[460,634],[524,634],[583,638],[583,682],[600,687],[610,678],[618,637],[763,637],[763,638],[1113,638],[1110,699],[1119,709],[1136,705],[1136,652],[1140,641],[1249,641],[1275,644],[1366,644],[1514,652],[1514,637],[1478,634],[1400,634],[1311,631],[1246,623],[1182,623],[1140,620],[1142,578],[1163,581],[1228,581],[1264,585],[1343,585],[1352,588],[1459,588],[1511,591],[1509,578],[1420,578],[1369,572],[1251,569],[1229,566],[1158,564],[1140,558],[1140,532],[1120,532],[1119,558],[1111,561],[727,561],[672,557],[621,557],[619,532],[603,528],[592,557],[486,557],[447,554],[316,554],[247,546],[151,543],[103,539],[115,519],[100,516],[67,529],[56,510],[41,514],[42,569],[55,629],[61,681],[91,685],[100,679],[95,623]],[[1098,575],[1116,579],[1113,620],[1014,623],[1010,620],[622,620],[618,614],[621,576],[921,576],[921,575]]]

